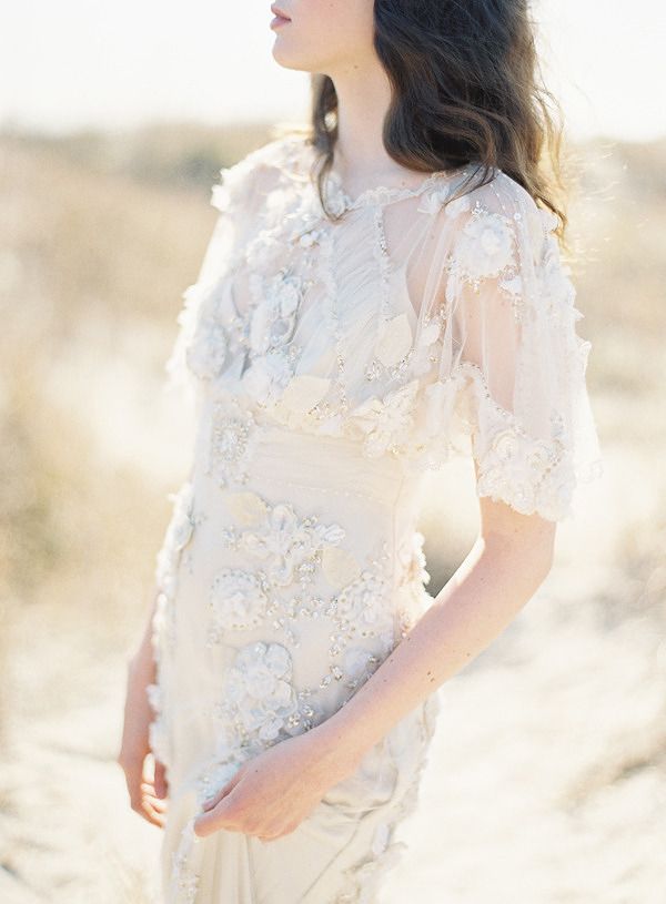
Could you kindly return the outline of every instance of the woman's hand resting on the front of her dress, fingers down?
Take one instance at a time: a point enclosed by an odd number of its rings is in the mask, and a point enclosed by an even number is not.
[[[290,834],[356,766],[351,758],[335,754],[322,744],[316,729],[273,744],[244,762],[204,803],[194,834],[205,837],[228,829],[262,841]]]

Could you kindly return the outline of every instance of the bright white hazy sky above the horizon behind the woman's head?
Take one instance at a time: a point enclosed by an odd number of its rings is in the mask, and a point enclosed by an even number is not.
[[[306,73],[273,60],[271,0],[20,0],[0,33],[0,125],[68,131],[297,120]],[[572,135],[666,134],[662,0],[537,0],[545,74]]]

